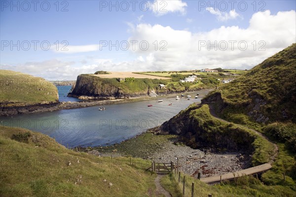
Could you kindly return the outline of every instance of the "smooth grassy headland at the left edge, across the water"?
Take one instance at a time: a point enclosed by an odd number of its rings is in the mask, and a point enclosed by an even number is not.
[[[0,70],[0,103],[18,106],[58,100],[57,88],[40,77],[11,70]]]

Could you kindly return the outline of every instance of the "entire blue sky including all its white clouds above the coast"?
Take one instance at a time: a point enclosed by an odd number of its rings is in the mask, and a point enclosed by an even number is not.
[[[1,69],[48,80],[97,70],[249,69],[296,42],[294,0],[0,2]]]

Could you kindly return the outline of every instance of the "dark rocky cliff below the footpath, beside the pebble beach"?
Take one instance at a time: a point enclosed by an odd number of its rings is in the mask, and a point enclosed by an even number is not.
[[[160,131],[179,135],[181,141],[192,148],[212,148],[214,151],[252,152],[255,140],[250,132],[211,117],[208,105],[190,105],[163,123]]]

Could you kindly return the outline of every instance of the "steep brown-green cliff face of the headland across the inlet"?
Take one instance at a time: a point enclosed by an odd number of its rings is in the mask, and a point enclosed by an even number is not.
[[[130,82],[119,82],[115,78],[81,74],[77,77],[76,85],[68,96],[79,99],[128,99],[184,92],[160,89],[158,85],[162,82],[157,79],[134,79]]]

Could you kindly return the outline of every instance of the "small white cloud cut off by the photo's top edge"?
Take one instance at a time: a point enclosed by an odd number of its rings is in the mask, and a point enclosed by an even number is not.
[[[162,16],[169,12],[179,12],[185,15],[187,3],[182,0],[154,0],[149,2],[149,8],[157,15]]]

